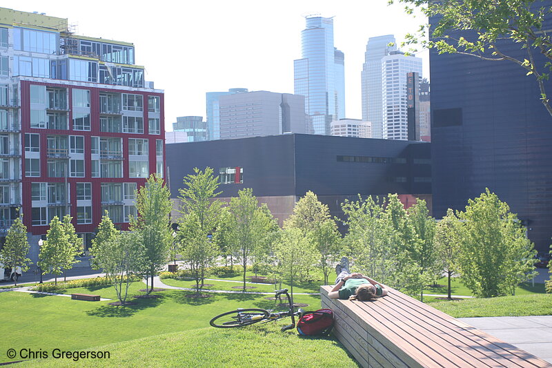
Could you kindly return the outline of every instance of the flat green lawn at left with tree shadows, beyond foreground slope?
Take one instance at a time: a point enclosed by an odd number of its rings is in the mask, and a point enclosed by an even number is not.
[[[159,299],[133,299],[143,294],[142,282],[131,284],[129,296],[136,305],[117,308],[105,302],[71,300],[68,297],[8,291],[1,293],[2,331],[10,338],[0,342],[0,362],[10,359],[10,348],[75,350],[135,340],[163,333],[208,327],[210,318],[238,307],[275,307],[268,296],[216,293],[210,298],[189,298],[189,291],[160,291]],[[112,287],[68,289],[67,293],[95,293],[115,299]],[[113,300],[115,301],[115,300]],[[295,302],[309,304],[307,310],[320,307],[317,296],[296,296]],[[287,325],[288,320],[277,322]],[[210,328],[210,327],[209,327]],[[16,331],[21,331],[17,333]]]

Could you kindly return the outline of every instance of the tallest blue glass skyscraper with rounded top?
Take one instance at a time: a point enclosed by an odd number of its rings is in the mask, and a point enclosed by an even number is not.
[[[333,18],[305,19],[302,59],[293,61],[295,95],[305,97],[306,133],[329,135],[330,123],[345,117],[344,54],[333,46]]]

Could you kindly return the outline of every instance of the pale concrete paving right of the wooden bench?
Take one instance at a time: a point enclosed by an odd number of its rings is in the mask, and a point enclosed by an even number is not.
[[[464,323],[525,350],[552,367],[552,316],[458,318]]]

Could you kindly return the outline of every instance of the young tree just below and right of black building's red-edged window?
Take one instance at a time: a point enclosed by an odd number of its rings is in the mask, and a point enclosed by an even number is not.
[[[260,244],[274,229],[275,220],[259,206],[253,189],[245,188],[238,191],[238,197],[233,197],[228,206],[230,217],[230,239],[232,248],[237,251],[239,260],[244,267],[244,291],[246,289],[246,270],[248,261],[255,257]]]

